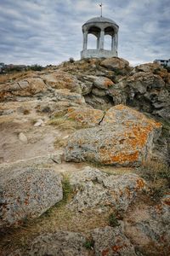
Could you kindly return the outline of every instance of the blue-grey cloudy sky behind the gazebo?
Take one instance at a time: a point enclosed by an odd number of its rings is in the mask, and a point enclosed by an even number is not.
[[[57,64],[80,59],[82,24],[98,0],[0,0],[0,62]],[[170,58],[170,0],[103,0],[119,25],[118,54],[132,65]],[[109,43],[105,42],[105,47]],[[89,46],[93,38],[89,38]]]

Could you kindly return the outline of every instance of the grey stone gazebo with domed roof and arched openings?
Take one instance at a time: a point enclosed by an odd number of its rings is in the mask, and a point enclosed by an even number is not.
[[[110,58],[117,56],[118,29],[116,22],[105,17],[96,17],[88,20],[82,26],[83,49],[81,59]],[[88,34],[97,38],[96,49],[88,49]],[[111,36],[111,50],[105,49],[105,35]]]

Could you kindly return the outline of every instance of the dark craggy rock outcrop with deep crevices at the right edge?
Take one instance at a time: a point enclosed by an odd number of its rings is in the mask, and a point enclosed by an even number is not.
[[[127,95],[127,104],[161,118],[170,119],[169,92],[161,76],[139,72],[125,79],[123,84],[122,94]]]

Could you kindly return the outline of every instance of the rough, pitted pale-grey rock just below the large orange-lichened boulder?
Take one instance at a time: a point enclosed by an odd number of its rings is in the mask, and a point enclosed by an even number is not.
[[[95,207],[127,210],[135,195],[145,187],[144,179],[135,174],[108,175],[91,167],[72,174],[71,185],[77,195],[70,207],[79,212]]]

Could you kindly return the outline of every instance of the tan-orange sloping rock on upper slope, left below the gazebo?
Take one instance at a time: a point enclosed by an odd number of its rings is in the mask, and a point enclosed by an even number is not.
[[[57,71],[54,73],[47,73],[42,76],[46,84],[55,89],[68,89],[71,92],[81,93],[80,82],[70,73],[64,71]]]

